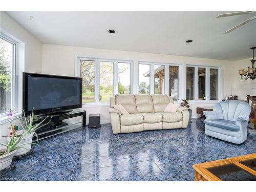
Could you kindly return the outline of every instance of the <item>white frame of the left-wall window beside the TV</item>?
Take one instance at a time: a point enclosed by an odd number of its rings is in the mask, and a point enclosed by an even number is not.
[[[8,41],[11,41],[15,44],[15,61],[13,61],[13,65],[15,69],[13,71],[14,79],[13,79],[13,115],[8,117],[7,113],[0,115],[0,124],[4,124],[12,121],[14,118],[22,117],[22,93],[23,93],[23,72],[26,71],[26,49],[27,44],[25,40],[17,38],[15,34],[10,32],[8,29],[0,25],[1,36],[3,36]]]

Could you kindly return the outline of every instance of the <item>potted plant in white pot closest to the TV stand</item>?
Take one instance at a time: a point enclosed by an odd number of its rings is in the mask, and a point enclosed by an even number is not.
[[[25,123],[19,122],[19,124],[20,124],[20,126],[22,126],[23,135],[24,135],[23,139],[20,141],[20,144],[24,144],[24,146],[23,146],[23,149],[18,149],[16,151],[16,153],[14,154],[14,157],[26,155],[31,150],[32,144],[35,144],[35,143],[32,143],[32,139],[33,139],[34,134],[35,134],[36,139],[38,141],[38,137],[37,137],[37,134],[35,133],[35,131],[40,129],[40,127],[44,126],[44,125],[40,125],[40,124],[47,119],[47,117],[46,117],[41,122],[33,124],[34,108],[32,110],[32,114],[30,115],[29,121],[26,118],[24,110],[23,110],[23,113],[24,113]],[[46,124],[48,124],[48,123],[46,123]],[[27,143],[27,144],[25,144],[25,143]]]

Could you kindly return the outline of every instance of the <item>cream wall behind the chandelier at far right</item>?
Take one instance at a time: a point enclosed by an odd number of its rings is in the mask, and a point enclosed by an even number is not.
[[[246,99],[246,95],[256,95],[256,79],[243,80],[238,73],[239,69],[247,70],[247,67],[251,67],[251,59],[234,61],[232,94],[238,95],[239,99]]]

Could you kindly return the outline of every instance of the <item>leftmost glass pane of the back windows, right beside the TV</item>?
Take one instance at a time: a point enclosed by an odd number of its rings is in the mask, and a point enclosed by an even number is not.
[[[80,60],[82,77],[82,102],[94,102],[95,61]]]

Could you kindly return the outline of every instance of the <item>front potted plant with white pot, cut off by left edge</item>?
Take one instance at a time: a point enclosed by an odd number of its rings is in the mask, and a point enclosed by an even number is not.
[[[5,150],[0,152],[0,170],[5,168],[9,168],[12,163],[12,158],[17,150],[24,149],[24,144],[20,144],[20,141],[23,140],[24,134],[17,136],[17,132],[14,130],[14,126],[11,124],[12,127],[12,136],[7,144],[0,143],[0,145],[5,146]]]

